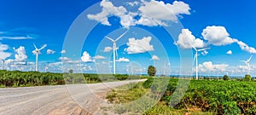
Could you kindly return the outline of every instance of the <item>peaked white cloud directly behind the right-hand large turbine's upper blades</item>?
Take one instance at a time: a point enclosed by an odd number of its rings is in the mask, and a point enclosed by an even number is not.
[[[182,49],[192,49],[191,44],[193,44],[195,48],[203,48],[206,46],[204,41],[202,41],[200,38],[195,38],[195,36],[192,35],[192,32],[190,32],[189,29],[182,30],[175,44],[177,44]]]

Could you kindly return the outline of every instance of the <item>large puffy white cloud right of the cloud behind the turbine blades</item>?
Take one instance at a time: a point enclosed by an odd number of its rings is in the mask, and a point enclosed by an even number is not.
[[[230,37],[224,26],[207,26],[201,35],[208,43],[215,46],[228,45],[236,42],[236,39]]]

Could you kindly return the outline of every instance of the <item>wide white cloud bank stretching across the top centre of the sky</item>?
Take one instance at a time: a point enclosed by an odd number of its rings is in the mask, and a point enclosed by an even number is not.
[[[114,6],[108,0],[102,0],[100,3],[102,12],[98,14],[88,14],[90,20],[97,20],[102,25],[111,26],[108,17],[117,16],[120,24],[126,28],[129,26],[168,26],[168,22],[177,22],[181,14],[190,14],[189,4],[174,1],[164,3],[155,0],[128,3],[130,6],[137,5],[139,7],[136,13],[128,11],[124,6]],[[138,19],[135,17],[139,17]]]

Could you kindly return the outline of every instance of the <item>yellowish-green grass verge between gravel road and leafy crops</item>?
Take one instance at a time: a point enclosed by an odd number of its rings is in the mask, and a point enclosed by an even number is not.
[[[118,89],[113,89],[108,92],[107,99],[109,102],[116,104],[113,106],[113,111],[118,114],[144,114],[144,115],[183,115],[189,113],[190,115],[211,115],[212,112],[190,111],[186,109],[174,109],[167,106],[166,102],[150,101],[150,94],[147,94],[149,89],[143,88],[143,83],[129,83]],[[152,95],[151,95],[152,96]],[[143,97],[143,99],[141,98]],[[147,100],[148,98],[148,100]],[[140,100],[140,102],[132,103]],[[145,105],[154,105],[152,107]]]

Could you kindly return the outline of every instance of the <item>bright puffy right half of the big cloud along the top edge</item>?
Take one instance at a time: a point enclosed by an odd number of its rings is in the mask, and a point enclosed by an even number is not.
[[[167,21],[177,22],[180,14],[190,14],[189,4],[174,1],[172,4],[162,1],[142,1],[143,5],[138,9],[141,18],[137,24],[143,26],[167,26]]]

